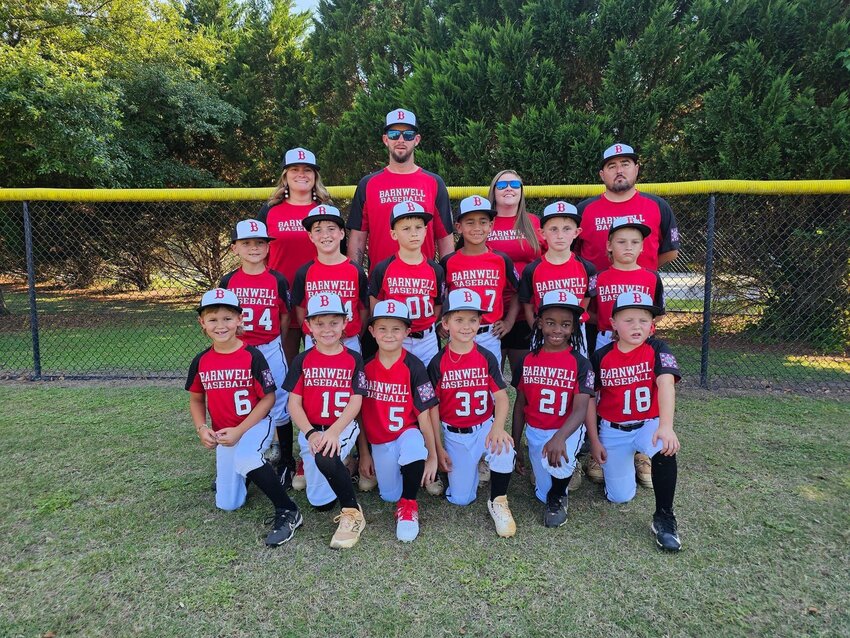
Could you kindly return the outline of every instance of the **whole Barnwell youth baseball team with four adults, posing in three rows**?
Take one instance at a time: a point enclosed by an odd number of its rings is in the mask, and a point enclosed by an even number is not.
[[[253,483],[274,504],[265,542],[277,546],[304,520],[288,490],[306,489],[314,509],[339,507],[330,544],[349,548],[366,527],[353,475],[396,504],[403,542],[419,534],[420,488],[466,506],[489,482],[496,533],[510,537],[513,472],[560,527],[585,445],[608,500],[651,485],[652,534],[678,551],[680,371],[655,320],[657,270],[679,236],[667,202],[636,189],[634,149],[603,152],[605,191],[578,206],[530,214],[520,175],[503,170],[453,215],[443,180],[414,162],[416,116],[390,111],[382,139],[388,165],[360,181],[347,220],[315,155],[287,151],[269,201],[233,229],[240,267],[201,298],[212,343],[186,389],[216,452],[216,506],[241,507]]]

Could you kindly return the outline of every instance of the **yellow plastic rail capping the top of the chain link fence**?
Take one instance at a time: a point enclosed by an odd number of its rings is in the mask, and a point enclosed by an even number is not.
[[[336,199],[351,199],[354,186],[331,186],[328,190]],[[850,195],[850,179],[749,181],[738,179],[638,184],[645,193],[665,197],[676,195],[707,195],[735,193],[746,195]],[[53,202],[233,202],[263,201],[271,188],[0,188],[0,201]],[[526,186],[529,198],[579,199],[598,195],[601,184]],[[450,186],[449,196],[462,199],[469,195],[486,195],[487,186]]]

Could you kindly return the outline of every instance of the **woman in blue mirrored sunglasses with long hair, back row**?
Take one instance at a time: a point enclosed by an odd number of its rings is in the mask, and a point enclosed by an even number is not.
[[[487,247],[505,253],[514,262],[517,272],[522,274],[528,264],[540,257],[542,250],[540,220],[525,208],[522,178],[510,169],[496,173],[490,182],[487,198],[496,210]],[[516,294],[516,291],[509,294]],[[507,308],[509,296],[504,303]],[[507,356],[511,370],[528,354],[530,338],[531,328],[528,323],[517,317],[514,327],[502,337],[502,361]]]

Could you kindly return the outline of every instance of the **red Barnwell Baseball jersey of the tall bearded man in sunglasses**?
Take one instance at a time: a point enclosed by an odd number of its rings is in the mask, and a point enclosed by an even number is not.
[[[406,201],[416,202],[434,216],[426,226],[423,255],[433,259],[437,254],[436,240],[452,234],[449,192],[439,175],[422,168],[413,173],[393,173],[382,168],[366,175],[354,191],[347,226],[369,233],[370,270],[398,251],[398,242],[390,235],[390,217],[393,206]]]

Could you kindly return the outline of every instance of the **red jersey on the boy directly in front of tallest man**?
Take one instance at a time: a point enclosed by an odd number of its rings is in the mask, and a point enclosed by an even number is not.
[[[369,295],[383,301],[395,299],[407,306],[413,332],[434,325],[438,306],[446,287],[443,267],[432,259],[407,264],[398,255],[385,259],[369,275]]]

